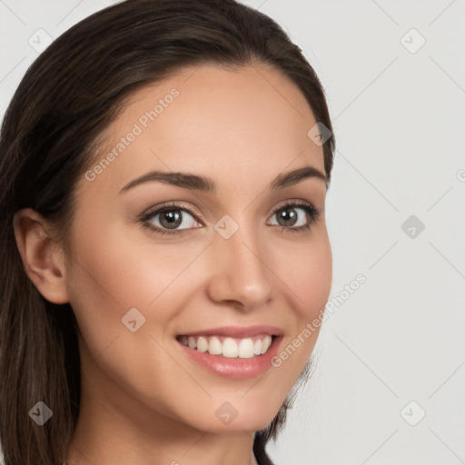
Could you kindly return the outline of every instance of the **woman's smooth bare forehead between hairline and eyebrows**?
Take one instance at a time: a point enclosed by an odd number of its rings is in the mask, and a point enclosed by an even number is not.
[[[322,147],[307,135],[314,124],[300,89],[268,66],[186,68],[124,103],[95,163],[114,156],[94,185],[121,188],[154,169],[208,173],[220,185],[308,164],[324,173]]]

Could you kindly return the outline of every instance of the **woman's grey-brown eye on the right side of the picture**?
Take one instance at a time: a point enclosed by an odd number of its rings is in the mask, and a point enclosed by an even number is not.
[[[299,233],[303,230],[309,230],[321,215],[312,203],[292,202],[278,207],[272,213],[272,218],[276,215],[277,223],[273,225],[282,226],[286,232]]]

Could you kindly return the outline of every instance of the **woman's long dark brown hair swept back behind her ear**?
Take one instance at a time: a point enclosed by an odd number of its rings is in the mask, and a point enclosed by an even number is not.
[[[74,312],[46,301],[29,280],[14,214],[33,208],[65,239],[77,180],[124,99],[207,63],[271,65],[332,133],[322,84],[301,49],[270,17],[234,0],[127,0],[105,8],[57,38],[15,92],[0,134],[0,441],[7,465],[63,464],[81,381]],[[328,183],[333,153],[331,134],[323,144]],[[38,401],[54,411],[44,426],[28,414]],[[291,401],[255,434],[261,464],[272,463],[265,445]]]

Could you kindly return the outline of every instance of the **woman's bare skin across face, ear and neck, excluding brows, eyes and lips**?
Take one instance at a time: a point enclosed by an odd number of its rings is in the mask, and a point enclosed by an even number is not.
[[[173,87],[179,96],[124,153],[94,181],[79,180],[71,253],[38,213],[15,216],[29,277],[50,302],[70,302],[79,323],[82,403],[68,464],[255,463],[254,431],[280,409],[318,331],[279,368],[248,380],[199,368],[175,336],[272,324],[282,328],[284,348],[331,290],[326,184],[312,177],[267,190],[276,176],[303,166],[324,173],[322,147],[307,136],[316,121],[299,89],[262,64],[184,69],[132,96],[107,128],[102,153]],[[152,170],[202,174],[218,192],[149,182],[119,193]],[[182,211],[182,234],[162,236],[138,220],[172,200],[199,213]],[[292,200],[322,211],[310,229],[278,225],[273,209]],[[310,220],[299,207],[296,213],[301,223]],[[228,240],[214,229],[224,214],[239,225]],[[132,332],[122,318],[134,307],[145,323]],[[224,401],[238,411],[228,425],[215,416]]]

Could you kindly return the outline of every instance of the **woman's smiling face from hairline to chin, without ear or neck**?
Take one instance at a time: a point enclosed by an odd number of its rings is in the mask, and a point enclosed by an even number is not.
[[[128,101],[76,191],[66,287],[83,400],[153,429],[272,420],[331,288],[316,123],[298,88],[258,64],[184,70]]]

